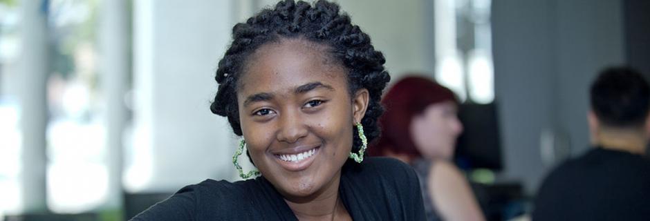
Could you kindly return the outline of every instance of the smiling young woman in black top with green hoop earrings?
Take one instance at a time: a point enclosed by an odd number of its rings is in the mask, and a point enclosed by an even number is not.
[[[364,159],[380,134],[390,77],[382,53],[339,6],[281,1],[232,36],[211,109],[243,137],[237,153],[245,147],[259,176],[186,186],[134,220],[425,218],[413,169]]]

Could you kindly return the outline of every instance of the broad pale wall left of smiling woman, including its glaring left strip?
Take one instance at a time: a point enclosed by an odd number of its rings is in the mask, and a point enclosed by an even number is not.
[[[145,128],[134,137],[145,141],[133,148],[151,148],[153,156],[144,191],[176,191],[234,173],[234,135],[224,117],[210,112],[214,71],[230,44],[230,9],[230,1],[210,0],[136,6],[134,120]]]

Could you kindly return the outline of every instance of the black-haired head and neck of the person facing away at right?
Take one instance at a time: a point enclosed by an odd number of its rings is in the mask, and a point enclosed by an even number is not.
[[[592,142],[631,136],[647,140],[650,88],[643,75],[628,67],[611,67],[601,71],[590,89],[591,110],[588,114]],[[645,147],[643,147],[645,148]]]

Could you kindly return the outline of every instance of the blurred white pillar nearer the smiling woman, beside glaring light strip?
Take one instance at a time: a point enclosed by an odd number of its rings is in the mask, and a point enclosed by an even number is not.
[[[102,1],[100,7],[99,54],[102,90],[106,97],[106,162],[109,191],[106,209],[122,202],[122,133],[127,123],[124,94],[129,84],[129,10],[126,0]]]

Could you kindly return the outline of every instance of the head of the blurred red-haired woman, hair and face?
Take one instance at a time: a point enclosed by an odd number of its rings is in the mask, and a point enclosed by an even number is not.
[[[415,157],[452,157],[456,138],[463,131],[452,90],[425,77],[409,76],[397,81],[382,103],[386,108],[380,118],[382,136],[369,149],[371,155],[406,162]]]

